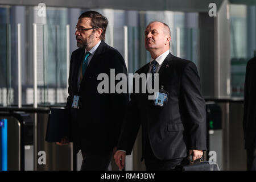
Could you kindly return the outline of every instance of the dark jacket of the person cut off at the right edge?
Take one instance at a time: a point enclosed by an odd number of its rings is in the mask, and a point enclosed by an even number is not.
[[[243,110],[243,133],[245,149],[254,147],[256,137],[256,57],[249,60],[246,67]]]

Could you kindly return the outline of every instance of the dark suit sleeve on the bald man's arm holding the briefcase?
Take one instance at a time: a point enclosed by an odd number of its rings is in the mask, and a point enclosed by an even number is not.
[[[207,150],[207,121],[200,78],[193,62],[185,66],[181,78],[183,117],[188,135],[188,150]]]

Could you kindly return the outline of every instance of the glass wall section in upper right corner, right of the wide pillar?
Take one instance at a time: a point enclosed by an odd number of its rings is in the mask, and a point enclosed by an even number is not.
[[[256,51],[256,6],[230,6],[232,96],[243,97],[247,61]]]

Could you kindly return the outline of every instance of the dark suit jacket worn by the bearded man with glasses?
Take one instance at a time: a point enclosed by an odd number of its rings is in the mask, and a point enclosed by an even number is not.
[[[78,90],[77,76],[84,52],[83,48],[79,48],[71,56],[66,107],[72,115],[71,138],[75,151],[82,149],[83,152],[100,154],[112,151],[117,146],[129,94],[98,93],[97,86],[101,80],[97,80],[97,77],[100,73],[106,73],[110,82],[110,69],[115,69],[115,75],[127,75],[127,68],[122,55],[102,40],[90,60]],[[80,96],[79,109],[71,107],[74,95]]]

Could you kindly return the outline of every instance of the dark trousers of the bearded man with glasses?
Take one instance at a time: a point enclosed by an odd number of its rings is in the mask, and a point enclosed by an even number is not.
[[[108,171],[113,152],[106,154],[86,154],[82,152],[81,171]]]

